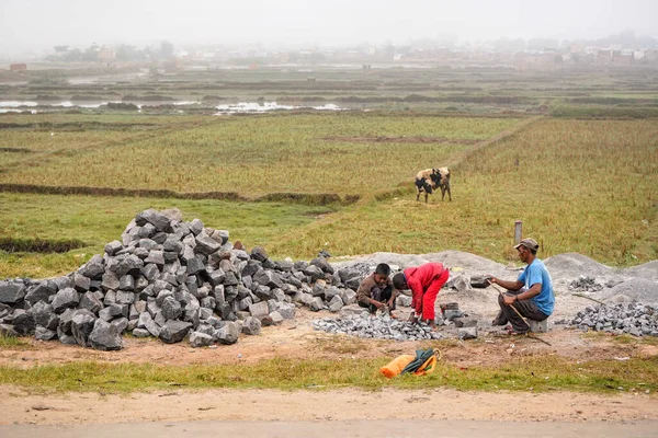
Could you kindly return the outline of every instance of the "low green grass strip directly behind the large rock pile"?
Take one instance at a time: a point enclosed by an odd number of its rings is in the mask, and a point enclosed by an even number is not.
[[[82,241],[87,245],[64,254],[0,251],[2,277],[43,278],[68,274],[121,233],[141,210],[179,208],[184,220],[200,218],[226,229],[232,242],[265,245],[280,233],[298,229],[339,206],[222,200],[149,199],[0,193],[0,239],[10,241]],[[29,250],[25,247],[24,250]],[[319,251],[319,249],[318,249]],[[281,258],[290,253],[275,254]]]

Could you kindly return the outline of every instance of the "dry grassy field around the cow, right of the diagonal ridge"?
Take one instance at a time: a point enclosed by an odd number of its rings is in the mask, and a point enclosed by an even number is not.
[[[514,220],[542,257],[579,252],[613,265],[658,257],[658,124],[543,120],[453,169],[453,201],[396,198],[350,207],[284,234],[276,254],[472,252],[515,260]],[[515,165],[515,160],[520,165]]]

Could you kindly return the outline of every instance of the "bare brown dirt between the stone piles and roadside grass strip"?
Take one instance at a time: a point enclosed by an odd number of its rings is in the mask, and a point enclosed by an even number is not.
[[[186,343],[164,344],[154,338],[125,337],[120,351],[98,351],[56,341],[30,341],[29,347],[0,350],[0,366],[30,368],[46,364],[73,361],[132,362],[162,365],[253,364],[262,359],[306,358],[370,358],[395,357],[415,351],[427,343],[359,339],[330,335],[313,330],[314,319],[331,316],[329,312],[313,313],[299,310],[293,321],[279,326],[263,327],[258,336],[242,335],[237,344],[215,348],[191,348]],[[442,359],[460,366],[497,365],[514,356],[558,355],[576,360],[647,357],[658,355],[658,346],[639,343],[619,343],[612,337],[589,336],[579,331],[556,327],[541,337],[551,346],[524,336],[507,336],[501,332],[481,332],[477,341],[447,339],[441,343]]]

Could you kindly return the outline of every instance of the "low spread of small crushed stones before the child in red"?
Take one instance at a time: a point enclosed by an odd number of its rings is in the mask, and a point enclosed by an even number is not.
[[[429,325],[411,324],[390,316],[373,318],[367,312],[344,318],[315,320],[313,327],[322,332],[344,334],[361,338],[427,341],[441,339],[443,335]]]

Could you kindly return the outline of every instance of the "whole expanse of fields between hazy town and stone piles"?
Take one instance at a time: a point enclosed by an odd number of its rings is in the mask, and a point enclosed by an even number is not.
[[[275,258],[308,260],[321,249],[334,256],[460,250],[509,262],[517,219],[544,258],[578,252],[614,266],[658,258],[650,69],[318,68],[314,82],[276,69],[181,71],[102,90],[61,80],[75,72],[55,81],[50,73],[30,72],[33,81],[1,85],[0,95],[198,104],[182,114],[171,105],[2,114],[2,277],[71,272],[151,207],[178,207]],[[350,111],[213,116],[217,103],[259,99]],[[452,170],[453,201],[417,203],[415,174],[442,165]],[[122,196],[92,196],[103,187]],[[260,201],[211,199],[223,194]],[[81,246],[12,250],[63,240]]]

